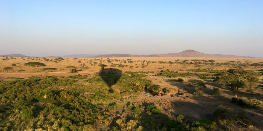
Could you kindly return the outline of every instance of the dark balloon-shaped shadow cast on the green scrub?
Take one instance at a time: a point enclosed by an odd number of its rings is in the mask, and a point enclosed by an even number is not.
[[[112,86],[116,84],[122,76],[122,70],[115,68],[105,68],[99,71],[99,75],[109,87],[109,92],[113,93],[114,90],[112,89]]]

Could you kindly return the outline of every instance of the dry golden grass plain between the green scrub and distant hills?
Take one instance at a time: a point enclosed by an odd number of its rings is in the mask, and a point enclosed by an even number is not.
[[[3,59],[3,58],[2,58]],[[24,59],[24,60],[23,60]],[[199,67],[196,67],[195,65],[191,64],[160,64],[159,61],[175,61],[175,60],[214,60],[216,61],[215,63],[222,63],[226,61],[240,61],[242,63],[245,63],[245,61],[251,61],[250,63],[258,63],[258,62],[263,62],[263,58],[167,58],[167,57],[135,57],[135,58],[110,58],[111,63],[106,61],[107,58],[102,58],[101,62],[100,60],[94,60],[94,58],[78,58],[74,60],[74,58],[63,58],[64,60],[54,62],[54,61],[44,61],[42,58],[34,58],[32,60],[31,58],[15,58],[15,59],[9,59],[6,61],[0,61],[0,77],[27,77],[27,76],[34,76],[34,75],[70,75],[69,72],[70,70],[65,68],[67,66],[76,66],[78,68],[83,68],[82,71],[79,71],[78,73],[83,74],[83,73],[96,73],[99,72],[101,69],[97,64],[90,65],[89,62],[97,62],[106,64],[108,65],[107,68],[110,68],[110,66],[113,64],[123,64],[123,65],[128,65],[127,67],[114,67],[119,70],[122,70],[122,72],[125,71],[159,71],[159,70],[186,70],[186,69],[229,69],[231,66],[210,66],[210,65],[203,65],[200,64]],[[47,58],[49,60],[55,59],[55,58]],[[101,59],[101,58],[95,58],[95,59]],[[114,61],[114,60],[120,60],[120,61]],[[124,63],[123,61],[127,59],[132,59],[134,61],[133,63]],[[156,61],[157,63],[149,63],[148,66],[145,66],[142,68],[141,66],[141,61]],[[78,61],[81,61],[81,63],[78,63]],[[137,62],[139,61],[139,62]],[[24,64],[27,62],[41,62],[46,64],[44,67],[38,67],[36,72],[34,73],[34,70],[32,67],[25,66]],[[201,61],[201,63],[203,63]],[[16,66],[13,67],[13,70],[8,71],[6,73],[4,70],[2,70],[4,67],[12,67],[11,64],[16,64]],[[81,66],[82,64],[82,66]],[[83,66],[85,64],[85,66]],[[145,63],[146,65],[146,63]],[[132,66],[132,68],[130,67]],[[138,68],[136,68],[138,66]],[[85,69],[84,67],[89,67],[89,69]],[[56,70],[43,70],[43,69],[48,69],[48,68],[55,68]],[[113,67],[112,67],[113,68]],[[248,67],[246,69],[251,69],[251,70],[258,70],[260,67]]]

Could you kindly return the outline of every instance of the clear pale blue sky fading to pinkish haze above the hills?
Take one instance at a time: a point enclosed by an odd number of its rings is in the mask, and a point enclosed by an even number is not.
[[[263,0],[0,0],[0,55],[263,58]]]

